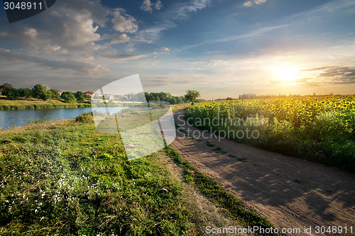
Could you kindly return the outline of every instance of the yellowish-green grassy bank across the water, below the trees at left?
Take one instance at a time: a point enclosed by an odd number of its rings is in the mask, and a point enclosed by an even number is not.
[[[67,103],[61,99],[18,99],[9,100],[0,96],[0,110],[18,110],[18,109],[43,109],[43,108],[83,108],[91,107],[90,103]]]

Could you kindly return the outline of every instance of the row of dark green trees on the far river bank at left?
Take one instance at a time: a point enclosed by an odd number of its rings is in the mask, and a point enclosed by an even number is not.
[[[59,94],[57,90],[48,89],[46,86],[43,86],[41,84],[35,84],[32,89],[6,88],[4,89],[4,91],[2,91],[1,95],[6,96],[8,99],[41,99],[43,101],[46,101],[48,99],[63,99],[70,103],[75,101],[83,103],[87,101],[87,99],[90,99],[90,96],[84,94],[82,91],[77,91],[75,93],[65,91],[62,92],[62,94]]]

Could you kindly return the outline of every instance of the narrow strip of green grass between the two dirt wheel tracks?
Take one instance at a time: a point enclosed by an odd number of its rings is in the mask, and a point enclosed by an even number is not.
[[[222,189],[222,186],[217,181],[209,178],[197,168],[192,167],[189,162],[182,159],[176,150],[167,147],[165,151],[180,167],[185,169],[185,181],[193,184],[197,189],[204,193],[210,201],[226,209],[222,211],[224,215],[231,217],[246,226],[260,226],[263,228],[274,227],[266,218],[258,215],[258,213],[255,213],[252,210],[246,209],[242,201]]]

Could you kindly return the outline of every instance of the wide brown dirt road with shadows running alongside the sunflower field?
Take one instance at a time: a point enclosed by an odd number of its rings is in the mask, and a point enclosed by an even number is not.
[[[197,130],[195,137],[201,134],[202,130],[178,118],[183,112],[175,112],[178,125],[185,130]],[[339,231],[316,234],[317,226],[341,226],[343,234],[347,227],[346,235],[355,235],[354,174],[231,140],[219,141],[209,133],[204,133],[208,137],[199,137],[200,140],[183,133],[179,136],[172,147],[184,159],[219,181],[224,189],[276,227],[295,228],[288,235],[341,235]],[[221,149],[216,150],[217,147]],[[312,233],[306,234],[305,227],[312,227]]]

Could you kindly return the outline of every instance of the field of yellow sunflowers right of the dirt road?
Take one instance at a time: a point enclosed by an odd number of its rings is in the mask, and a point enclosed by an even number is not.
[[[229,138],[355,172],[354,96],[209,101],[185,118],[209,132],[254,131]]]

